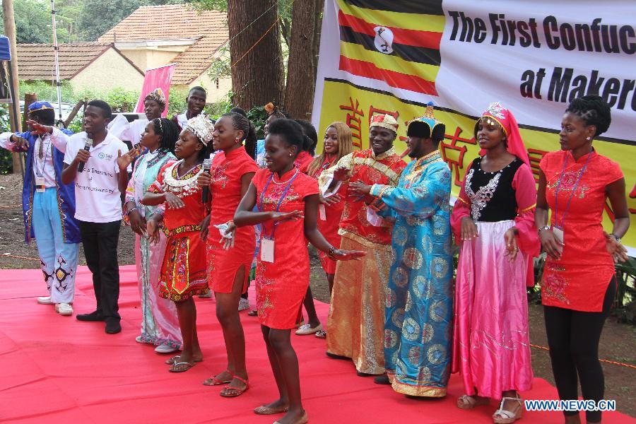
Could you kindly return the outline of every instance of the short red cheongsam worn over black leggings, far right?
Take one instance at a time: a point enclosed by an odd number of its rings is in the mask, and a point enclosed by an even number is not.
[[[601,312],[614,275],[614,261],[607,252],[602,225],[606,187],[623,178],[623,172],[618,163],[594,151],[578,160],[571,151],[550,152],[539,166],[546,175],[551,223],[563,227],[564,244],[560,259],[546,259],[541,302]]]

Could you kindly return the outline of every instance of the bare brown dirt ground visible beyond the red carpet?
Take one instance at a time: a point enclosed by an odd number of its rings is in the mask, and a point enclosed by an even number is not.
[[[39,266],[35,242],[23,242],[20,175],[0,175],[0,269],[31,269]],[[13,256],[8,256],[13,255]],[[16,258],[19,257],[19,258]],[[86,264],[80,249],[80,264]],[[134,237],[129,228],[119,236],[119,264],[134,263]],[[326,278],[317,257],[312,257],[311,285],[314,298],[329,302]],[[529,306],[530,341],[535,346],[548,346],[541,305]],[[531,348],[532,368],[536,377],[554,384],[548,351]],[[602,359],[636,366],[636,327],[620,324],[610,318],[601,336],[599,356]],[[636,370],[603,363],[605,399],[615,399],[618,411],[636,417]]]

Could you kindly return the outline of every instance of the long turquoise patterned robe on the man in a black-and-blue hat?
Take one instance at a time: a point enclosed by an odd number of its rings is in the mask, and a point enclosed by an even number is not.
[[[398,186],[374,184],[373,209],[393,218],[395,261],[384,308],[384,361],[395,391],[446,395],[452,341],[452,175],[435,151],[408,164]]]

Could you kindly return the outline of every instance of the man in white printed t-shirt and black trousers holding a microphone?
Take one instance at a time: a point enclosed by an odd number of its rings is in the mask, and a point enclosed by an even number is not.
[[[128,148],[106,130],[111,114],[106,102],[93,100],[88,102],[84,112],[85,132],[69,137],[51,126],[42,126],[42,129],[52,134],[55,146],[66,143],[61,180],[64,184],[75,182],[75,218],[82,236],[86,264],[93,273],[97,309],[90,314],[78,314],[76,318],[80,321],[104,321],[107,334],[116,334],[122,331],[117,305],[117,242],[122,220],[121,194],[128,184],[126,165],[120,167],[117,159]],[[87,143],[88,140],[92,142]]]

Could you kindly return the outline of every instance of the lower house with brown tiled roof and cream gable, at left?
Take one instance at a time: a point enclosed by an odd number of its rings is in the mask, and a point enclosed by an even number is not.
[[[17,52],[21,81],[55,80],[52,44],[18,44]],[[112,42],[59,44],[59,77],[77,90],[139,90],[143,84],[143,71]]]

